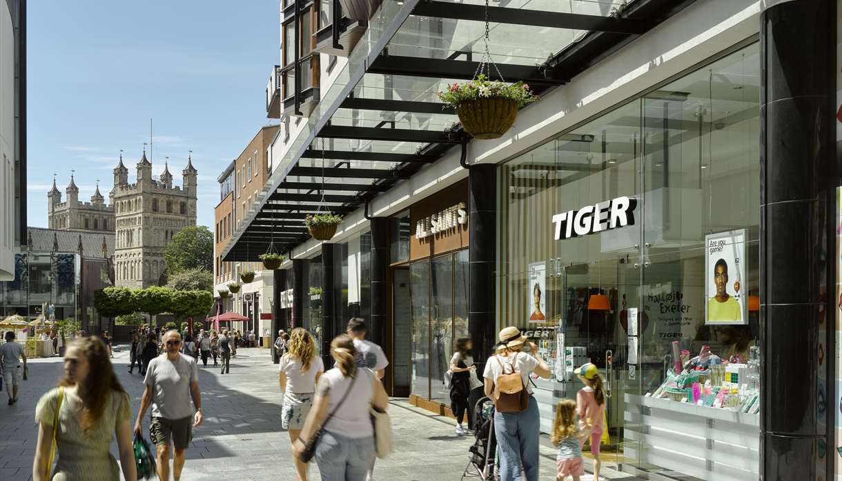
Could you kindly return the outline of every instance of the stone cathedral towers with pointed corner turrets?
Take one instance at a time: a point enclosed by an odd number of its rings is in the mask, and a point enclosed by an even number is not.
[[[61,202],[56,181],[47,198],[51,229],[86,232],[114,232],[114,270],[118,287],[147,288],[163,282],[166,262],[163,249],[179,230],[196,225],[196,169],[188,156],[182,171],[182,186],[173,187],[168,164],[160,176],[152,176],[152,162],[143,151],[137,162],[137,178],[129,183],[129,169],[123,156],[114,169],[111,203],[104,203],[99,184],[91,202],[79,202],[73,176],[67,186],[67,201]]]

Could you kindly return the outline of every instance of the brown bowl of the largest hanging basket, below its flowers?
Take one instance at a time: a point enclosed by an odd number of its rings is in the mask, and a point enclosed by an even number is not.
[[[518,116],[518,103],[510,98],[477,98],[456,107],[462,128],[475,139],[497,139]]]

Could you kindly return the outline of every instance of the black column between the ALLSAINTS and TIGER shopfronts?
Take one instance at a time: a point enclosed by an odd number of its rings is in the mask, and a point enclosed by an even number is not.
[[[497,337],[497,166],[472,166],[468,190],[468,330],[474,358],[482,363],[491,355]]]

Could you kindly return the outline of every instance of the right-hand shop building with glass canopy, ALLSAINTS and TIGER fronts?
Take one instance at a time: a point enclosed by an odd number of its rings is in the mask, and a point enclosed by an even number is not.
[[[836,2],[338,4],[281,5],[273,172],[221,252],[289,252],[276,322],[327,356],[365,316],[387,390],[436,412],[456,339],[482,373],[514,325],[552,367],[542,431],[599,367],[605,468],[839,478]],[[490,75],[541,99],[477,140],[437,93],[486,34]],[[344,219],[316,241],[325,208]]]

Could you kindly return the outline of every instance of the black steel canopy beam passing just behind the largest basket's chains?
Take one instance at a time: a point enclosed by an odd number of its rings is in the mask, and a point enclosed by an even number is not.
[[[477,72],[477,66],[477,61],[381,55],[371,64],[368,73],[471,80]],[[507,82],[522,80],[530,84],[563,85],[568,80],[560,77],[562,72],[558,69],[554,77],[545,77],[534,65],[498,64],[497,67]]]

